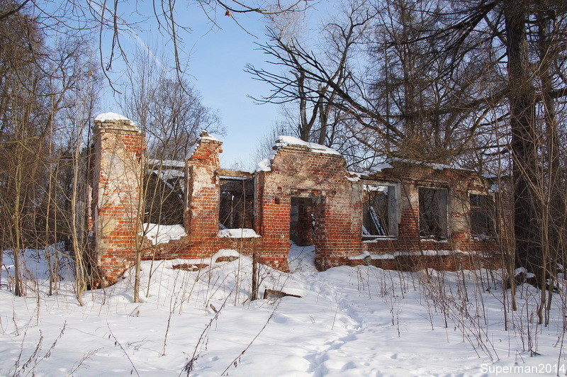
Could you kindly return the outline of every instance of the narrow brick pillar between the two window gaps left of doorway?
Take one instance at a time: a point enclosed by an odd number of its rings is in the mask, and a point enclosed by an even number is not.
[[[205,131],[187,161],[187,198],[184,226],[192,237],[203,240],[218,232],[221,142]]]

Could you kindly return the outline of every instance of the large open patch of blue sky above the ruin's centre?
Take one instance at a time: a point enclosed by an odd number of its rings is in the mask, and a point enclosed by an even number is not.
[[[269,91],[269,86],[244,72],[246,63],[263,64],[265,57],[254,42],[264,42],[266,38],[264,23],[258,16],[242,18],[247,18],[243,23],[257,38],[242,30],[230,17],[220,18],[218,23],[222,30],[195,35],[189,61],[193,83],[201,91],[203,102],[220,111],[227,130],[227,134],[220,137],[224,142],[223,167],[240,160],[247,162],[259,138],[268,133],[279,118],[279,106],[258,105],[248,97]]]

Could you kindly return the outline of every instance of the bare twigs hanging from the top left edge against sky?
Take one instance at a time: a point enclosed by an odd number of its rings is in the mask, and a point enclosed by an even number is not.
[[[162,34],[164,46],[171,52],[169,68],[175,77],[184,77],[186,54],[184,38],[191,34],[191,25],[179,13],[202,12],[203,18],[211,25],[220,28],[218,16],[228,16],[240,26],[238,15],[257,13],[261,17],[276,16],[281,13],[300,12],[310,6],[308,1],[200,1],[188,6],[176,1],[163,1],[154,4],[135,4],[127,1],[52,1],[5,0],[0,11],[0,21],[15,16],[18,12],[35,15],[39,27],[52,35],[82,35],[96,41],[99,49],[99,64],[110,85],[116,89],[111,72],[120,63],[133,61],[133,53],[125,47],[125,38],[136,38],[140,30],[154,28]],[[188,9],[189,8],[189,9]],[[240,26],[246,32],[245,26]]]

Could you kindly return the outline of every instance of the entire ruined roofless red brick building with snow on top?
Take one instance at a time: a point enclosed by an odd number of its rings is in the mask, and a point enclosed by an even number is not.
[[[293,137],[276,140],[257,171],[227,170],[219,163],[223,143],[206,133],[185,162],[152,162],[130,120],[106,113],[94,123],[90,259],[106,283],[133,265],[136,251],[144,259],[206,261],[235,249],[287,271],[290,240],[314,244],[319,269],[471,269],[500,261],[510,216],[496,210],[502,198],[493,182],[473,171],[400,160],[353,173],[335,150]],[[179,205],[170,206],[184,227],[175,240],[144,237],[147,171],[183,186]]]

